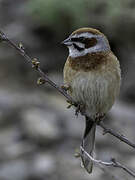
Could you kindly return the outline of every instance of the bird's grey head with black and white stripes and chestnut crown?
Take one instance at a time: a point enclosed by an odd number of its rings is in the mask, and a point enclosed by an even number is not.
[[[110,45],[103,33],[93,28],[80,28],[63,42],[69,49],[69,56],[80,57],[88,53],[105,52]]]

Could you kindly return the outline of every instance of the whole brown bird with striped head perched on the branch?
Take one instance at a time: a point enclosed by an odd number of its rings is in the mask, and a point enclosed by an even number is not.
[[[64,86],[73,100],[84,105],[86,127],[84,150],[93,155],[96,121],[111,109],[119,93],[121,70],[106,36],[93,28],[80,28],[63,41],[69,49],[64,66]],[[88,173],[93,162],[84,154],[82,163]]]

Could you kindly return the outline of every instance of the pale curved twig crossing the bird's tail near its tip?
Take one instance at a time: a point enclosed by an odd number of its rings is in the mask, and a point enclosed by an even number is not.
[[[94,163],[98,163],[98,164],[101,164],[101,165],[104,165],[104,166],[108,166],[108,167],[117,167],[117,168],[123,169],[124,171],[126,171],[128,174],[130,174],[132,177],[135,178],[135,173],[133,171],[131,171],[129,168],[127,168],[126,166],[124,166],[121,163],[119,163],[118,161],[116,161],[114,158],[112,158],[110,160],[110,162],[105,162],[105,161],[102,161],[102,160],[97,160],[97,159],[94,159],[90,154],[88,154],[84,150],[84,148],[82,146],[80,146],[80,149]]]

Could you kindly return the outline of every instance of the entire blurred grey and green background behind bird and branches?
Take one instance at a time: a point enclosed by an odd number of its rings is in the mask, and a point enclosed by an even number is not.
[[[68,50],[60,42],[80,27],[101,30],[120,60],[120,96],[105,123],[135,142],[135,1],[0,0],[0,29],[39,59],[57,84]],[[122,170],[95,165],[92,175],[74,157],[84,118],[15,50],[0,44],[0,180],[123,180]],[[135,151],[97,128],[97,158],[117,158],[135,171]]]

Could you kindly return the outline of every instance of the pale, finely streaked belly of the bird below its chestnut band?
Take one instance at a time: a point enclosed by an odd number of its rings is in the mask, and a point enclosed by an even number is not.
[[[119,92],[117,81],[112,74],[78,73],[70,84],[70,95],[74,101],[85,105],[88,116],[102,115],[110,110]]]

